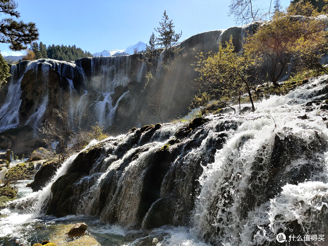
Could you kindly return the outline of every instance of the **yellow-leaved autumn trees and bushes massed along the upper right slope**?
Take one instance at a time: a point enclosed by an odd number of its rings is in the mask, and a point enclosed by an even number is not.
[[[237,1],[232,2],[236,4]],[[264,92],[279,93],[278,81],[288,77],[303,80],[306,77],[300,75],[309,72],[328,74],[323,59],[328,51],[324,15],[328,13],[328,5],[319,12],[311,2],[302,1],[281,10],[277,0],[273,14],[269,13],[270,20],[261,22],[259,10],[254,12],[251,1],[239,3],[238,8],[243,4],[250,8],[248,13],[242,9],[238,12],[237,5],[232,13],[239,14],[241,19],[253,18],[257,24],[252,26],[241,50],[237,50],[231,36],[229,42],[219,42],[215,53],[198,52],[198,61],[194,64],[195,71],[199,72],[195,83],[198,94],[192,107],[206,105],[212,100],[231,107],[231,99],[237,97],[240,109],[241,97],[247,93],[254,111],[251,88],[257,98],[262,98]],[[269,89],[271,84],[274,89]],[[256,89],[259,85],[265,85],[266,89]]]

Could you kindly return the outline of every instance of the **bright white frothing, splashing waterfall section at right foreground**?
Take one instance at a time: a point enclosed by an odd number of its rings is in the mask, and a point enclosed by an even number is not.
[[[322,97],[316,93],[324,79],[258,104],[204,166],[193,217],[197,236],[215,245],[244,246],[274,243],[281,232],[290,236],[295,221],[303,236],[327,231],[320,224],[327,223],[328,212],[328,132],[322,117],[304,107]],[[304,114],[310,120],[302,120]],[[316,215],[308,217],[308,211]]]

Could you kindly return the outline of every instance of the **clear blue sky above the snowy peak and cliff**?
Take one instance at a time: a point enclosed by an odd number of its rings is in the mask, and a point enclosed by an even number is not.
[[[24,22],[34,22],[40,38],[48,45],[76,45],[91,53],[125,49],[139,41],[148,43],[164,10],[173,20],[176,32],[182,31],[179,41],[200,32],[235,26],[228,16],[229,0],[17,0],[17,10]],[[254,1],[266,7],[270,0]],[[281,0],[282,6],[290,0]],[[1,15],[4,17],[4,15]],[[154,31],[155,32],[155,31]],[[155,35],[157,33],[155,32]],[[12,52],[8,44],[0,44],[1,53]]]

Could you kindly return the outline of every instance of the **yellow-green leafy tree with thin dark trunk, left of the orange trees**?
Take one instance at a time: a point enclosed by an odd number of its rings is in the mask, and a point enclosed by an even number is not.
[[[229,105],[229,99],[237,96],[240,109],[241,95],[247,92],[252,109],[255,110],[250,83],[252,65],[254,66],[257,60],[249,53],[235,51],[233,36],[230,36],[228,42],[219,42],[217,52],[199,52],[197,58],[195,71],[199,72],[196,79],[199,93],[195,96],[193,106],[205,104],[209,100],[218,100],[236,112]]]

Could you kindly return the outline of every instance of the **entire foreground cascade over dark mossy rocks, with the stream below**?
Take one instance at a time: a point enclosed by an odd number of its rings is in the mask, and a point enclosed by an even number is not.
[[[93,144],[34,195],[49,215],[37,209],[13,230],[16,215],[1,212],[12,232],[0,226],[0,242],[55,241],[65,223],[86,222],[94,245],[280,245],[279,233],[286,245],[327,245],[327,91],[323,76],[255,112],[145,126]],[[77,244],[65,240],[57,242]]]

